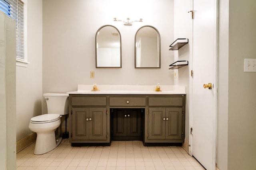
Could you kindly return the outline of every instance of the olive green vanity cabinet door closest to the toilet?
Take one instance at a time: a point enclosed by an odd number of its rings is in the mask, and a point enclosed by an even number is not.
[[[72,140],[89,139],[89,108],[72,108]]]

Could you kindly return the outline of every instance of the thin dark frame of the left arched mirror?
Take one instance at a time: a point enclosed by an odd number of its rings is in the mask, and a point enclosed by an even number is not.
[[[97,34],[100,31],[100,29],[104,28],[104,27],[113,27],[114,29],[116,29],[116,31],[118,31],[119,34],[119,38],[120,38],[120,66],[98,66],[98,50],[97,50]],[[96,31],[96,35],[95,35],[95,50],[96,50],[96,68],[122,68],[122,41],[121,41],[121,34],[120,31],[113,25],[103,25],[101,26],[97,31]]]

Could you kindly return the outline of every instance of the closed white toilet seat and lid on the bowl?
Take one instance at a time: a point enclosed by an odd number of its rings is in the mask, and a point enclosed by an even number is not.
[[[59,114],[44,114],[38,115],[36,117],[32,117],[30,119],[31,123],[50,123],[54,121],[58,121],[60,119]]]

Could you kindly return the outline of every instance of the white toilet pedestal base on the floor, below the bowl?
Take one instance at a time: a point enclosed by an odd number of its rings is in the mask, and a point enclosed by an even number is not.
[[[56,143],[55,133],[53,131],[36,133],[36,146],[34,149],[34,154],[44,154],[55,149],[62,141],[60,137]]]

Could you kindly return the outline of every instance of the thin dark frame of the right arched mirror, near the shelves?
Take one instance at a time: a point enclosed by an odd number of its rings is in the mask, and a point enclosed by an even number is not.
[[[142,29],[142,28],[144,28],[144,27],[151,27],[151,28],[153,28],[155,31],[156,31],[156,33],[158,34],[158,37],[159,37],[159,47],[158,47],[158,49],[159,49],[159,52],[158,52],[158,55],[159,55],[159,59],[158,59],[158,62],[159,62],[159,66],[156,66],[156,67],[138,67],[138,66],[136,66],[136,51],[137,51],[137,49],[136,49],[136,37],[137,37],[137,34],[138,34],[138,31],[140,31],[140,29]],[[159,33],[159,31],[155,28],[155,27],[153,27],[153,26],[151,26],[151,25],[144,25],[144,26],[142,26],[142,27],[140,27],[139,29],[138,29],[138,31],[136,32],[136,34],[135,34],[135,38],[134,38],[134,65],[135,65],[135,68],[161,68],[161,39],[160,39],[160,33]]]

